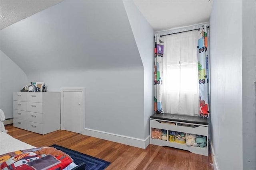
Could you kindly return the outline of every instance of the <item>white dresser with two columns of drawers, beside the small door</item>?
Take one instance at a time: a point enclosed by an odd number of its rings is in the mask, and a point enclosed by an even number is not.
[[[13,126],[46,134],[60,129],[60,92],[14,92]]]

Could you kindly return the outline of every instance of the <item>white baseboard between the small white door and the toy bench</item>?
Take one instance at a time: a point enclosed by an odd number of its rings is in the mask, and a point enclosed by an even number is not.
[[[88,128],[84,129],[83,135],[105,139],[112,142],[122,143],[125,145],[130,145],[130,146],[138,147],[142,149],[146,149],[146,147],[150,143],[150,138],[149,138],[150,136],[148,136],[146,139],[139,139],[139,138],[128,137],[124,135],[117,135],[114,133],[108,133],[108,132],[98,131],[98,130],[88,129]]]

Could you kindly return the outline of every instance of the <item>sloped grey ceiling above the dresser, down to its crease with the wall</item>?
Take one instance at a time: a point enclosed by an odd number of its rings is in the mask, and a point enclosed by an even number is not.
[[[122,1],[63,1],[0,31],[0,49],[26,74],[142,67]]]

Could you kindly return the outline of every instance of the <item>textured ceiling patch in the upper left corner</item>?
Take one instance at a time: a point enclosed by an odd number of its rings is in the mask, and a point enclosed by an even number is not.
[[[0,30],[62,0],[0,0]]]

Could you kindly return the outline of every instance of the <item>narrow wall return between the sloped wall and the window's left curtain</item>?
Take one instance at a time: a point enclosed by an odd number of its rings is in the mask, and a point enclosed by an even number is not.
[[[150,134],[154,114],[154,30],[132,1],[123,1],[144,68],[144,133]]]

